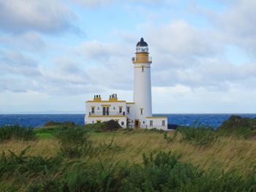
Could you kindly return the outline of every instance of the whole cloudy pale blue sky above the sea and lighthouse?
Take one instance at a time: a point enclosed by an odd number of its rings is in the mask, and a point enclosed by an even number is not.
[[[256,112],[254,0],[0,0],[0,113],[132,101],[148,43],[154,113]]]

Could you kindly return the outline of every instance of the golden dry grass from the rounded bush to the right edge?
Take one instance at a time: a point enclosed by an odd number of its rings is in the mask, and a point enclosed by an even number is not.
[[[173,132],[168,133],[169,136]],[[121,147],[121,152],[107,153],[101,156],[106,161],[130,161],[142,162],[143,153],[173,151],[181,153],[181,161],[190,161],[201,169],[219,169],[229,171],[236,169],[239,174],[250,174],[256,166],[256,142],[255,140],[238,137],[219,137],[212,145],[192,145],[189,142],[181,142],[178,137],[167,143],[163,134],[156,132],[135,130],[132,133],[118,131],[116,134],[94,134],[94,142],[110,142],[114,139],[116,145]]]

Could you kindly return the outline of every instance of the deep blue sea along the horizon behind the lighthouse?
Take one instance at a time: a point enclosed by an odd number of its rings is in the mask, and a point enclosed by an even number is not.
[[[241,117],[256,118],[256,114],[238,114]],[[214,128],[219,127],[230,114],[156,114],[154,116],[165,116],[168,123],[192,126],[195,121]],[[19,124],[20,126],[43,126],[46,122],[54,120],[58,122],[72,121],[83,125],[83,114],[39,114],[39,115],[0,115],[0,126]]]

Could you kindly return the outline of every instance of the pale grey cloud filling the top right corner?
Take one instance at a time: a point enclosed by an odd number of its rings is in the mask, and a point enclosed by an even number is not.
[[[219,12],[198,4],[194,4],[193,9],[200,17],[204,15],[208,18],[211,31],[214,31],[220,42],[236,45],[255,58],[256,1],[225,0],[221,3],[225,4],[225,9]]]

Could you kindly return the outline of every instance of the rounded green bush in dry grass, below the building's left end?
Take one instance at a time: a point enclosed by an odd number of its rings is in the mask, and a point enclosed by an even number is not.
[[[61,153],[69,157],[80,157],[91,153],[92,142],[83,127],[63,127],[56,131],[56,138],[61,145]]]

